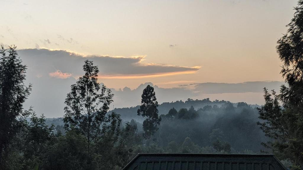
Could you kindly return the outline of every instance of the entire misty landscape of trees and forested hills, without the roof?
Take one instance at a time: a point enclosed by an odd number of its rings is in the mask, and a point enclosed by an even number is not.
[[[265,104],[225,100],[158,104],[154,87],[141,105],[109,110],[113,94],[86,60],[71,85],[63,118],[23,108],[32,85],[15,46],[0,49],[0,169],[118,170],[138,153],[273,153],[303,170],[303,0],[276,47],[285,79],[264,88]],[[45,89],[47,90],[47,89]]]

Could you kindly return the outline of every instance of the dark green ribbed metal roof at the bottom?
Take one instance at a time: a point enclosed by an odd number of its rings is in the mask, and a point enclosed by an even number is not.
[[[122,170],[287,170],[272,154],[139,153]]]

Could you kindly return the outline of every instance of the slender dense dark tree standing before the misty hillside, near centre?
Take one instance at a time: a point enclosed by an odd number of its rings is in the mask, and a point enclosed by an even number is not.
[[[154,92],[154,87],[147,85],[143,90],[142,100],[140,109],[138,109],[138,116],[146,117],[143,121],[144,137],[150,139],[153,134],[158,130],[158,125],[160,125],[161,117],[158,116],[158,102],[156,94]]]

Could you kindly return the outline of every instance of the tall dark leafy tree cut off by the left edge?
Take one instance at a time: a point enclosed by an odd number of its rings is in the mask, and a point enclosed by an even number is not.
[[[16,48],[0,49],[0,165],[3,150],[20,129],[18,116],[22,116],[23,103],[32,90],[31,84],[24,84],[27,68]]]

